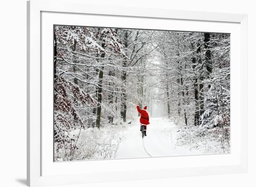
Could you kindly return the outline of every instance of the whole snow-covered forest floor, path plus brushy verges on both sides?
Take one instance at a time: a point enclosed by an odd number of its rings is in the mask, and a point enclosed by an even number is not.
[[[79,129],[72,131],[79,134]],[[230,153],[228,142],[220,141],[213,129],[175,125],[170,119],[150,118],[143,139],[139,118],[128,123],[82,129],[73,160],[128,159],[163,156]],[[56,161],[68,160],[69,149],[61,149]]]

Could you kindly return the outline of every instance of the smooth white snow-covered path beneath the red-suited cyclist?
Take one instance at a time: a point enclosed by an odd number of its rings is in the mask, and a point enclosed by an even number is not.
[[[147,136],[142,140],[139,119],[132,121],[123,132],[125,139],[120,143],[116,158],[144,158],[193,154],[189,148],[175,145],[178,127],[168,119],[151,118]],[[144,148],[145,147],[145,148]]]

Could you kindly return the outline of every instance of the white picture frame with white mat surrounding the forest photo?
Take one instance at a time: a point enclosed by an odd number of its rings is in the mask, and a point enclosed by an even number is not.
[[[61,6],[60,6],[61,5]],[[46,14],[45,14],[46,13]],[[48,14],[47,14],[48,13]],[[232,79],[236,79],[239,84],[231,84],[231,90],[234,89],[237,94],[233,94],[233,100],[236,100],[233,114],[236,114],[237,120],[231,120],[233,124],[234,137],[236,140],[236,146],[232,153],[232,141],[231,141],[231,154],[229,155],[202,155],[202,156],[187,156],[187,157],[164,157],[164,158],[150,158],[150,159],[125,159],[125,160],[99,160],[99,161],[76,161],[76,162],[64,162],[61,164],[54,164],[53,160],[45,159],[51,158],[52,150],[46,151],[47,141],[43,138],[46,136],[47,131],[42,126],[42,111],[48,109],[52,103],[45,104],[45,100],[42,103],[42,97],[45,89],[42,83],[42,75],[44,73],[51,73],[50,70],[42,72],[44,67],[44,60],[48,55],[45,54],[44,49],[45,40],[51,40],[47,38],[47,34],[44,35],[44,23],[46,24],[58,24],[54,22],[58,19],[54,17],[63,17],[66,15],[65,21],[74,19],[72,16],[76,16],[76,23],[79,24],[79,17],[82,16],[101,16],[108,17],[109,23],[111,19],[133,19],[139,20],[147,19],[155,20],[156,22],[173,21],[177,22],[177,26],[182,25],[178,22],[188,23],[194,21],[198,27],[201,24],[205,24],[207,27],[215,27],[215,25],[222,24],[223,29],[229,30],[232,24],[235,38],[232,39],[231,33],[231,76]],[[111,18],[110,18],[111,17]],[[49,19],[52,18],[52,19]],[[68,19],[70,18],[70,19]],[[61,18],[60,20],[61,21]],[[113,21],[112,21],[113,22]],[[118,22],[118,21],[117,21]],[[130,24],[129,21],[123,21],[120,24]],[[136,21],[135,21],[136,22]],[[137,21],[139,23],[139,21]],[[247,130],[248,130],[248,99],[247,99],[247,15],[244,14],[230,14],[230,13],[208,13],[208,12],[191,12],[191,11],[177,11],[169,9],[146,9],[140,7],[99,7],[93,4],[86,4],[84,0],[31,0],[27,2],[27,185],[28,186],[44,186],[44,185],[68,185],[79,184],[88,182],[107,182],[117,180],[138,180],[138,179],[152,179],[152,178],[167,178],[176,176],[193,176],[193,175],[208,175],[208,174],[232,174],[247,172],[248,168],[248,155],[247,155]],[[64,22],[63,22],[64,23]],[[66,23],[66,22],[65,22]],[[69,22],[71,24],[71,22]],[[94,26],[102,26],[101,24],[109,24],[107,20],[105,23],[97,23]],[[207,25],[207,23],[209,23]],[[146,24],[146,23],[145,23]],[[156,24],[157,25],[157,24]],[[163,24],[162,24],[163,25]],[[174,23],[175,25],[175,23]],[[107,25],[108,26],[108,25]],[[120,25],[121,27],[121,25]],[[127,25],[126,27],[132,27]],[[136,26],[133,26],[136,27]],[[138,26],[139,27],[139,26]],[[143,26],[141,26],[143,27]],[[145,26],[146,27],[146,26]],[[161,27],[155,26],[155,27]],[[187,27],[187,28],[186,28]],[[189,24],[183,24],[182,30],[190,29]],[[238,28],[238,29],[237,29]],[[216,29],[216,28],[215,28]],[[193,30],[193,29],[192,29]],[[220,30],[220,31],[222,31]],[[200,30],[197,30],[200,31]],[[52,32],[52,31],[51,31]],[[236,33],[235,33],[236,32]],[[44,37],[42,37],[42,35]],[[232,40],[236,43],[236,52],[232,57]],[[235,48],[234,47],[234,48]],[[233,50],[233,52],[235,52]],[[46,56],[44,56],[46,55]],[[238,55],[238,56],[236,56]],[[237,57],[237,58],[236,58]],[[239,58],[238,58],[239,57]],[[52,56],[49,56],[52,58]],[[233,67],[233,68],[232,68]],[[45,72],[46,71],[46,72]],[[52,71],[52,70],[51,70]],[[43,88],[43,89],[42,89]],[[50,90],[47,90],[50,91]],[[232,92],[231,92],[232,94]],[[232,101],[231,101],[232,102]],[[231,103],[231,105],[233,105]],[[42,107],[43,106],[43,107]],[[231,113],[232,115],[232,113]],[[235,116],[235,115],[233,115]],[[243,124],[242,120],[243,119]],[[232,128],[231,128],[232,129]],[[46,133],[45,133],[46,131]],[[44,133],[42,133],[44,132]],[[232,138],[232,133],[231,133]],[[52,139],[48,142],[52,142]],[[51,148],[49,148],[51,149]],[[191,158],[190,158],[191,157]],[[206,159],[204,159],[206,158]],[[198,160],[204,160],[206,164],[200,164]],[[212,163],[207,164],[208,160],[212,160]],[[222,160],[222,162],[221,162]],[[226,162],[225,160],[231,160]],[[152,167],[135,168],[139,162],[152,163]],[[81,163],[82,162],[82,163]],[[160,163],[181,163],[184,165],[178,165],[170,167],[166,164],[165,167]],[[193,162],[193,165],[186,165],[186,163]],[[203,161],[202,161],[203,163]],[[79,165],[87,165],[89,168],[94,168],[94,172],[83,174]],[[54,165],[54,166],[53,166]],[[100,169],[99,166],[104,166],[105,169]],[[123,169],[118,166],[123,166]],[[160,166],[159,166],[160,165]],[[174,164],[173,164],[174,165]],[[130,166],[130,167],[129,167]],[[154,166],[154,167],[153,167]],[[63,168],[77,168],[76,172],[61,173]],[[45,169],[47,168],[47,169]],[[134,168],[134,169],[133,169]]]

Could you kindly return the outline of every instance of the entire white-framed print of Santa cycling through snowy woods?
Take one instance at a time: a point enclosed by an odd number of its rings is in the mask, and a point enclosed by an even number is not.
[[[27,7],[29,186],[247,171],[246,15]]]

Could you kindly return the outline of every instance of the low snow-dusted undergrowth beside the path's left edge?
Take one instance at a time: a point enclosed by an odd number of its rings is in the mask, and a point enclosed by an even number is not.
[[[119,124],[119,126],[121,127],[116,128],[116,125],[105,125],[100,129],[90,127],[81,129],[81,131],[80,129],[73,129],[69,135],[78,136],[79,134],[79,139],[77,140],[76,150],[74,151],[72,160],[115,158],[122,140],[121,133],[126,128],[123,124]],[[54,160],[68,160],[66,154],[70,154],[70,151],[62,147],[58,153],[55,154]]]

